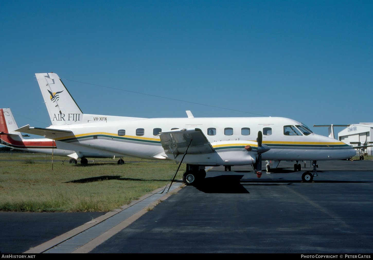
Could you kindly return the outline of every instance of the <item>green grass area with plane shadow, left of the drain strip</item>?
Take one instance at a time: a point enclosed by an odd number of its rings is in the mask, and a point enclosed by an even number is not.
[[[44,154],[0,154],[0,210],[107,212],[166,185],[177,169],[175,162],[136,158],[124,158],[124,165],[112,159],[70,165],[67,157],[54,156],[52,170],[50,160]]]

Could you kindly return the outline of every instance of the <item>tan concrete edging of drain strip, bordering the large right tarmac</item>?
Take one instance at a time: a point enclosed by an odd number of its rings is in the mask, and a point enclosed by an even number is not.
[[[158,200],[166,200],[168,197],[170,197],[173,193],[178,192],[182,187],[178,187],[173,189],[172,192],[167,193],[163,197],[159,198]],[[157,200],[157,201],[158,201]],[[154,201],[147,207],[155,207],[157,206],[157,201]],[[118,225],[114,226],[113,228],[109,229],[108,231],[104,232],[103,234],[97,236],[96,238],[92,239],[87,244],[83,245],[82,247],[79,247],[75,251],[72,252],[72,254],[82,254],[82,253],[89,253],[92,251],[95,247],[105,242],[107,239],[111,238],[113,235],[119,233],[123,229],[125,229],[127,226],[131,225],[133,222],[135,222],[138,218],[140,218],[142,215],[148,212],[147,207],[140,210],[139,212],[133,214],[131,217],[128,217],[127,219],[120,222]]]

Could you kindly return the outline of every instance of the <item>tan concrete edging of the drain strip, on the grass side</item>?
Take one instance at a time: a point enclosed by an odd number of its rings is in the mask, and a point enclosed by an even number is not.
[[[168,185],[168,184],[167,184]],[[39,254],[39,253],[43,253],[44,251],[47,251],[48,249],[50,248],[53,248],[55,247],[56,245],[59,245],[61,244],[62,242],[65,242],[66,240],[72,238],[73,236],[76,236],[84,231],[86,231],[87,229],[89,228],[92,228],[93,226],[97,225],[98,223],[101,223],[103,222],[104,220],[108,219],[109,217],[112,217],[114,216],[115,214],[119,213],[119,212],[122,212],[123,210],[125,209],[128,209],[129,207],[139,203],[140,201],[142,200],[145,200],[146,198],[156,194],[157,192],[159,191],[162,191],[165,187],[168,187],[167,185],[161,187],[161,188],[158,188],[148,194],[145,194],[143,195],[142,197],[140,197],[138,200],[133,200],[131,201],[131,203],[129,203],[128,205],[123,205],[120,207],[120,209],[115,209],[115,210],[112,210],[110,212],[107,212],[106,214],[103,214],[102,216],[99,216],[87,223],[84,223],[83,225],[81,226],[78,226],[62,235],[59,235],[59,236],[56,236],[55,238],[47,241],[47,242],[44,242],[43,244],[40,244],[40,245],[37,245],[36,247],[33,247],[25,252],[23,252],[24,254]]]

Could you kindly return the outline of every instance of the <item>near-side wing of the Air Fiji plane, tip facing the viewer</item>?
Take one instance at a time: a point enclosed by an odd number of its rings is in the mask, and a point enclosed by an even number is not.
[[[159,137],[164,152],[174,154],[174,156],[185,153],[189,143],[188,154],[205,154],[215,151],[199,128],[161,132]]]

